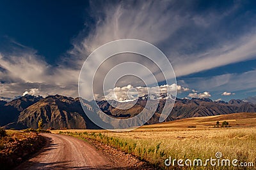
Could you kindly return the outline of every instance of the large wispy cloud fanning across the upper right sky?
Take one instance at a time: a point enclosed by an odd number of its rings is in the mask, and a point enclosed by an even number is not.
[[[140,1],[135,4],[125,2],[100,9],[104,15],[95,16],[98,22],[93,31],[75,41],[70,52],[84,56],[109,41],[142,39],[166,53],[177,76],[255,58],[256,23],[252,20],[246,31],[233,34],[224,26],[225,19],[239,10],[239,3],[227,6],[225,11],[209,9],[203,13],[192,10],[191,3],[180,6],[170,1]],[[240,19],[244,19],[243,15]],[[214,29],[216,25],[220,30]],[[236,26],[243,29],[243,25]]]

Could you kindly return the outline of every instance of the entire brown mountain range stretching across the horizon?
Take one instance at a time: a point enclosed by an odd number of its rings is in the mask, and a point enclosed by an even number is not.
[[[147,96],[139,97],[132,108],[121,110],[111,106],[108,101],[97,101],[97,104],[104,113],[116,118],[131,118],[138,115],[147,104]],[[118,105],[131,104],[132,101],[118,103]],[[159,117],[163,106],[166,103],[166,97],[159,98],[156,113],[148,120],[146,124],[159,123]],[[93,103],[83,99],[87,112],[95,110]],[[97,112],[97,111],[96,111]],[[225,101],[212,101],[209,98],[202,99],[179,99],[177,98],[173,110],[166,118],[166,122],[189,117],[206,117],[212,115],[225,115],[240,112],[256,112],[256,104],[232,99],[228,103]],[[6,129],[26,129],[38,128],[38,121],[42,119],[45,129],[53,127],[54,129],[100,129],[84,113],[80,99],[55,96],[22,96],[9,103],[0,101],[0,126]]]

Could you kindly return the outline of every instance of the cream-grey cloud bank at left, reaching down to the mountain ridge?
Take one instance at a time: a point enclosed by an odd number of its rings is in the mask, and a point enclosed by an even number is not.
[[[52,67],[34,50],[0,53],[0,80],[4,82],[0,83],[0,96],[3,97],[14,99],[23,92],[44,97],[54,94],[77,97],[78,76],[79,70]]]

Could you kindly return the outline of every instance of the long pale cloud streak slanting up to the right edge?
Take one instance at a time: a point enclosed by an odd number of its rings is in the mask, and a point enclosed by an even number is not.
[[[226,43],[221,48],[214,48],[207,53],[186,57],[189,61],[183,60],[173,66],[175,73],[177,76],[183,76],[235,62],[256,59],[255,32],[244,35],[236,42]]]

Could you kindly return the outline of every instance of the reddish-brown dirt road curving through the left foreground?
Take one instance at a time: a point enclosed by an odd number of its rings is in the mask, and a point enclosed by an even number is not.
[[[111,169],[113,165],[92,145],[60,134],[41,134],[45,147],[15,169]]]

